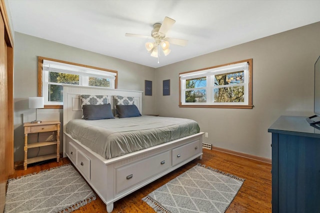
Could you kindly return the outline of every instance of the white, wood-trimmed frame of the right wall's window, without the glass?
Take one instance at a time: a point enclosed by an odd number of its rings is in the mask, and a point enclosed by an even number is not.
[[[224,73],[242,71],[244,83],[214,85],[214,76]],[[206,77],[206,87],[186,89],[186,80]],[[179,73],[179,107],[212,107],[212,108],[252,108],[252,59],[229,64],[208,67],[200,70]],[[244,86],[244,102],[214,102],[214,88]],[[188,90],[206,90],[206,102],[185,102],[185,92]]]

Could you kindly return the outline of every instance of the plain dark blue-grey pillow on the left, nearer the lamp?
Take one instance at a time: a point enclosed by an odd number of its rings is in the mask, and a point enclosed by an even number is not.
[[[83,105],[83,119],[101,120],[114,118],[110,104]]]

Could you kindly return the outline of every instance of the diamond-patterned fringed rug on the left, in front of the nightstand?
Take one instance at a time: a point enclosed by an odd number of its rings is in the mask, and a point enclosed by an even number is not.
[[[8,180],[4,213],[69,213],[95,200],[70,165]]]

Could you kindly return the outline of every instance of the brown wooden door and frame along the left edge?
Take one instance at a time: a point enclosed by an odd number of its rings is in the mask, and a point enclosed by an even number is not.
[[[0,33],[2,42],[0,43],[4,55],[0,57],[0,74],[3,78],[1,82],[0,92],[4,94],[1,97],[1,102],[4,103],[4,112],[1,112],[1,117],[4,120],[1,123],[0,146],[2,149],[0,162],[0,212],[3,212],[5,204],[5,186],[9,175],[14,173],[13,162],[13,39],[9,26],[9,18],[6,13],[4,0],[0,0],[0,13],[1,13],[1,27],[4,28],[4,33]],[[3,32],[2,28],[2,32]],[[4,42],[3,42],[4,41]],[[5,105],[6,104],[6,105]]]

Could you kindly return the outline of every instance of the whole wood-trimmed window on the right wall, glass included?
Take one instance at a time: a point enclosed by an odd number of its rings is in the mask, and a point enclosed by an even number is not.
[[[252,59],[179,74],[180,107],[252,106]]]

